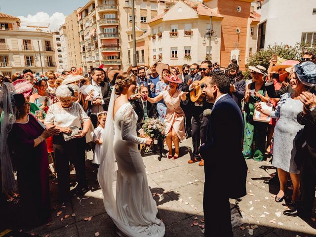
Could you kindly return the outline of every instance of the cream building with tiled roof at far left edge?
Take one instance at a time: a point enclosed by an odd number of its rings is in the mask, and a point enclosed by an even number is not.
[[[18,17],[0,12],[0,74],[12,76],[25,68],[34,73],[56,71],[52,33],[47,27],[25,25]]]

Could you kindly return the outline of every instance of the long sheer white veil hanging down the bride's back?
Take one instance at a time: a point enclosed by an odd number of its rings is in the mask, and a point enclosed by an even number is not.
[[[102,156],[98,171],[98,181],[103,193],[103,203],[107,213],[111,217],[117,216],[116,208],[116,179],[117,168],[116,159],[113,150],[114,140],[114,119],[113,109],[114,102],[118,95],[111,94],[111,99],[108,107],[107,120],[105,122],[103,139],[102,139]]]

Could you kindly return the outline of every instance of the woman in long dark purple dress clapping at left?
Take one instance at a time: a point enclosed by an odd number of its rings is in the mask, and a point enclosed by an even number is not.
[[[20,206],[28,226],[50,220],[48,158],[45,139],[55,135],[55,127],[45,129],[30,113],[23,94],[13,95],[16,120],[8,135],[8,146],[16,167]]]

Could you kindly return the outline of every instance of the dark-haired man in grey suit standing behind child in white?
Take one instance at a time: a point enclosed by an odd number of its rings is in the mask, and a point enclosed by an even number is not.
[[[97,127],[98,119],[97,113],[101,111],[108,111],[111,87],[108,81],[102,81],[103,70],[100,68],[93,68],[91,70],[91,85],[98,92],[99,96],[93,101],[89,102],[88,110],[90,110],[91,121],[94,127]]]

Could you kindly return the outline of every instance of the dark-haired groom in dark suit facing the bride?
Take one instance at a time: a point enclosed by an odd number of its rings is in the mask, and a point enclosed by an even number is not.
[[[205,236],[233,237],[229,198],[246,195],[247,165],[242,156],[243,118],[229,95],[230,79],[214,72],[206,79],[203,92],[214,103],[206,132],[206,143],[199,148],[204,159]]]

